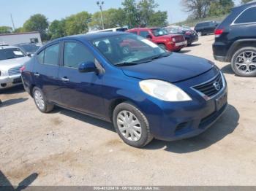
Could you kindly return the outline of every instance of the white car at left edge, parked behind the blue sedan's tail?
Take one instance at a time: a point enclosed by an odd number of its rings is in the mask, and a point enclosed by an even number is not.
[[[20,85],[20,69],[29,57],[18,47],[0,46],[0,89]]]

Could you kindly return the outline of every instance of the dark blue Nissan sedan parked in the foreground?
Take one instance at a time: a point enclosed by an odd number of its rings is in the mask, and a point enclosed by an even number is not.
[[[135,34],[56,39],[21,70],[41,112],[57,105],[113,122],[132,147],[196,136],[227,108],[225,77],[214,63]]]

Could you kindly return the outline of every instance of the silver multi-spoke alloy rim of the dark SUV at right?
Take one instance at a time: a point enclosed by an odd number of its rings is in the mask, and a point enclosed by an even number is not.
[[[236,69],[239,71],[250,74],[256,70],[256,52],[246,51],[242,52],[236,58]]]

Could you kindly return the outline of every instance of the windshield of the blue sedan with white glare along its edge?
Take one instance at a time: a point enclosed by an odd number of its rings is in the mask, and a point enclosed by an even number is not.
[[[169,53],[157,44],[135,34],[108,36],[94,39],[91,43],[115,66],[145,63],[167,56]]]

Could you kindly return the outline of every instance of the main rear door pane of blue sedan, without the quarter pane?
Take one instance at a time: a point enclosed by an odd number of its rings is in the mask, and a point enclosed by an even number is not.
[[[50,65],[59,64],[59,44],[52,45],[45,49],[44,63]]]

